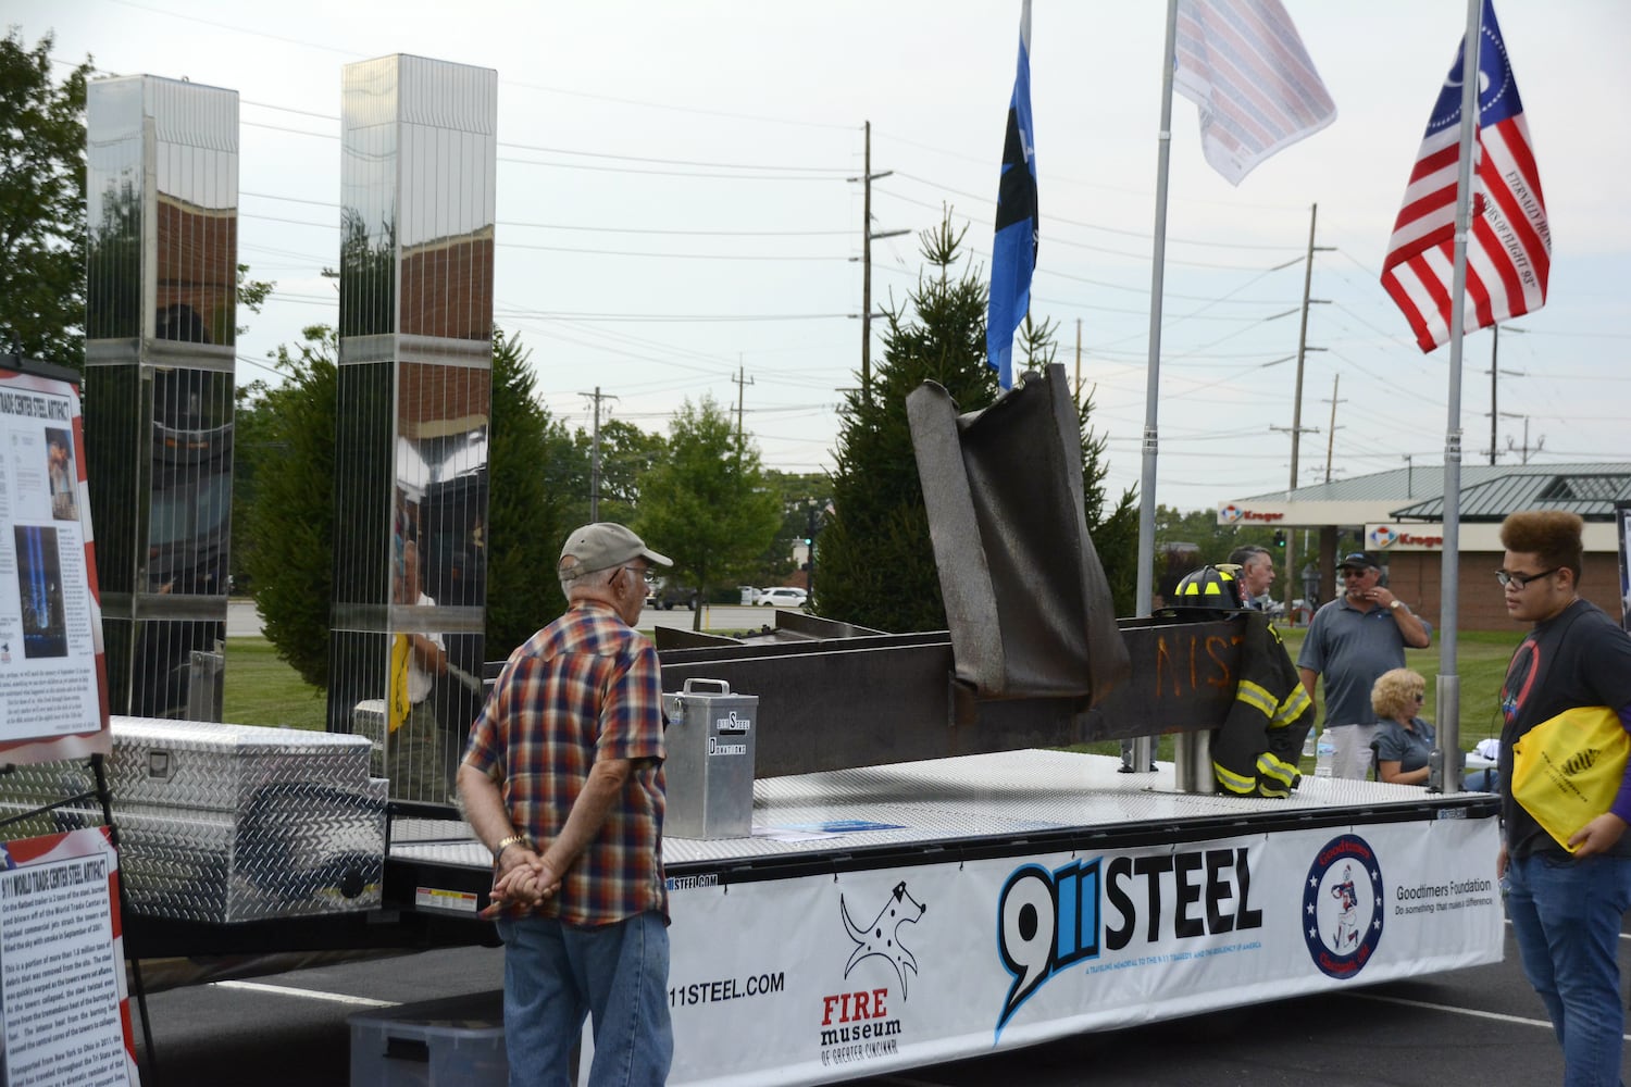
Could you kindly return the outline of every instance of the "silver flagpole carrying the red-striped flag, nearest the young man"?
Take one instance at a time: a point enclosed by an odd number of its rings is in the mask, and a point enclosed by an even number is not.
[[[1461,152],[1455,183],[1455,274],[1450,287],[1450,393],[1443,440],[1443,601],[1439,614],[1439,750],[1429,792],[1461,790],[1461,676],[1455,671],[1461,582],[1461,326],[1466,321],[1466,240],[1471,233],[1473,153],[1478,125],[1478,57],[1484,47],[1484,0],[1466,0],[1461,57]]]

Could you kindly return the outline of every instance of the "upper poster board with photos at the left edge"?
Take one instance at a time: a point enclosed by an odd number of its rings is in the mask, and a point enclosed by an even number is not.
[[[80,396],[0,368],[0,763],[106,755]]]

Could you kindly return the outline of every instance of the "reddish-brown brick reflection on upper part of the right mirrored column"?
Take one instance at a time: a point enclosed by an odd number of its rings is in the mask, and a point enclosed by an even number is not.
[[[401,332],[493,337],[493,227],[403,248]]]

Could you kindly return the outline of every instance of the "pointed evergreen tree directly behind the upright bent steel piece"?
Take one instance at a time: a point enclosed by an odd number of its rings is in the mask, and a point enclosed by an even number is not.
[[[928,535],[905,398],[923,381],[946,388],[959,411],[995,399],[997,373],[985,365],[987,287],[972,269],[953,279],[964,231],[949,217],[920,236],[926,272],[907,303],[886,310],[884,357],[871,396],[845,396],[838,466],[832,477],[833,513],[816,548],[816,596],[820,614],[879,631],[939,631],[946,608]],[[1024,357],[1052,360],[1052,326],[1026,323]],[[1078,401],[1088,531],[1106,567],[1117,611],[1132,613],[1137,566],[1137,510],[1127,492],[1106,512],[1104,440],[1088,427],[1093,398]]]

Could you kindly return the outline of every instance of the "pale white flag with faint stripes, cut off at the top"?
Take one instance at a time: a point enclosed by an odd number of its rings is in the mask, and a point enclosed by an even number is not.
[[[1336,119],[1280,0],[1178,0],[1173,90],[1200,108],[1200,150],[1230,184]]]

